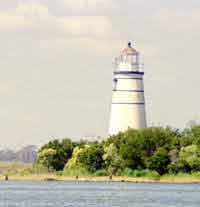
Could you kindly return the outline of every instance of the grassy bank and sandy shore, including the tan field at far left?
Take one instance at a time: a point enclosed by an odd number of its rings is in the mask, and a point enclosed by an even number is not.
[[[109,176],[106,170],[89,173],[84,168],[65,169],[49,173],[40,165],[23,163],[0,163],[0,180],[16,181],[95,181],[95,182],[161,182],[161,183],[200,183],[200,172],[165,174],[155,171],[124,169],[116,176]]]

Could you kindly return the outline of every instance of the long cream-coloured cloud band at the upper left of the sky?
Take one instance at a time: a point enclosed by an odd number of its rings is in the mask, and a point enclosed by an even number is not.
[[[40,32],[46,36],[109,38],[112,24],[107,16],[54,16],[40,4],[20,4],[0,12],[0,31]]]

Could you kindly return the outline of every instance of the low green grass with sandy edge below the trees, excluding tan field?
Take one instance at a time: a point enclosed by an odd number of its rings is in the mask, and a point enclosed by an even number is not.
[[[92,182],[135,182],[135,183],[200,183],[200,173],[178,173],[160,176],[154,171],[123,171],[121,175],[109,176],[105,171],[91,174],[83,169],[65,170],[53,173],[33,173],[31,168],[2,173],[0,180],[11,181],[92,181]]]

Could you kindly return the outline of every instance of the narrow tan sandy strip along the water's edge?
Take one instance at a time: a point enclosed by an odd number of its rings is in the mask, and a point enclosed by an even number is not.
[[[5,176],[0,176],[0,181],[7,181]],[[200,178],[189,177],[173,177],[173,178],[145,178],[145,177],[121,177],[113,176],[110,179],[108,176],[90,177],[70,177],[56,175],[30,175],[30,176],[9,176],[8,181],[65,181],[65,182],[132,182],[132,183],[200,183]]]

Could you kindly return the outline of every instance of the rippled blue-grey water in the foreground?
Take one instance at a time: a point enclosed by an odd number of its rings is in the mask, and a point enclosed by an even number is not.
[[[199,207],[200,184],[0,182],[0,207]]]

